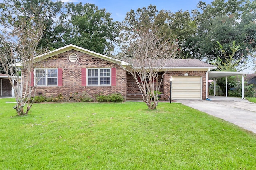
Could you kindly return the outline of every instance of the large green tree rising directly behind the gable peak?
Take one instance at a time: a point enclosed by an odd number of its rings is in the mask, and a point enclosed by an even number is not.
[[[110,18],[106,9],[94,4],[67,3],[56,23],[52,47],[70,43],[96,51],[111,54],[118,37],[118,22]]]

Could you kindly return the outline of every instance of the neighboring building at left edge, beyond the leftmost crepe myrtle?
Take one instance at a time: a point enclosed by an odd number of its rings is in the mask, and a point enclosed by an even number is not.
[[[0,73],[0,97],[13,97],[12,85],[6,74]]]

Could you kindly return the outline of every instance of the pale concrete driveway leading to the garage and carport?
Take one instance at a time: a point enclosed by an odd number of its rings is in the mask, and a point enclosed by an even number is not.
[[[256,103],[234,97],[209,96],[208,100],[176,100],[256,133]]]

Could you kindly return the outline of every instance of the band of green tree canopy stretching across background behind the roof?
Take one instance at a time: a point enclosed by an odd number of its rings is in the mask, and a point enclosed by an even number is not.
[[[10,12],[13,16],[44,16],[45,31],[38,50],[46,47],[52,50],[72,43],[112,55],[118,51],[115,47],[124,40],[124,35],[128,40],[142,30],[157,29],[166,39],[176,39],[182,58],[211,61],[220,57],[225,61],[217,41],[228,56],[231,54],[229,46],[236,41],[241,50],[234,54],[234,59],[254,57],[256,61],[255,9],[255,0],[213,0],[210,4],[199,1],[197,9],[191,12],[158,10],[150,5],[128,11],[124,21],[119,23],[113,21],[105,8],[99,9],[94,4],[4,0],[0,4],[0,18]]]

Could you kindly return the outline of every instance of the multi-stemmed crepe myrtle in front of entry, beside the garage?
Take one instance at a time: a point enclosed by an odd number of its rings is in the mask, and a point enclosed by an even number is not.
[[[159,33],[157,29],[147,29],[134,35],[122,46],[119,58],[130,63],[130,66],[124,69],[136,80],[148,108],[156,109],[160,84],[166,73],[164,67],[170,64],[170,59],[178,55],[178,43]],[[160,74],[162,76],[158,84]]]

